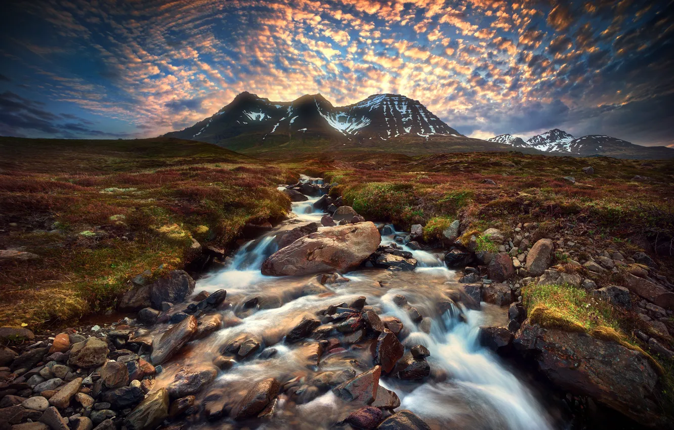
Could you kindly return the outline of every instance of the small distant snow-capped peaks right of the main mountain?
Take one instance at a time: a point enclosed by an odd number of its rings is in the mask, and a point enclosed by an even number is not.
[[[520,137],[510,134],[501,134],[487,140],[514,147],[533,148],[543,152],[561,152],[582,156],[604,154],[607,152],[625,152],[634,149],[634,147],[644,148],[607,135],[574,137],[570,133],[560,129],[551,129],[545,133],[535,135],[526,142]]]

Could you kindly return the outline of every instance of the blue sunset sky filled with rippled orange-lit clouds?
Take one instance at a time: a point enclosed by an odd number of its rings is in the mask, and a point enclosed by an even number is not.
[[[0,135],[153,137],[240,92],[674,147],[674,0],[5,0]]]

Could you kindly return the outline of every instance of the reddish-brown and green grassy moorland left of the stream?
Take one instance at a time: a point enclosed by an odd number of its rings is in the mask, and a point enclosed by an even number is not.
[[[30,328],[109,309],[144,270],[182,268],[193,239],[228,247],[278,220],[296,181],[211,144],[175,139],[0,138],[0,249],[42,262],[0,270],[0,325]],[[161,268],[161,270],[159,270]]]

